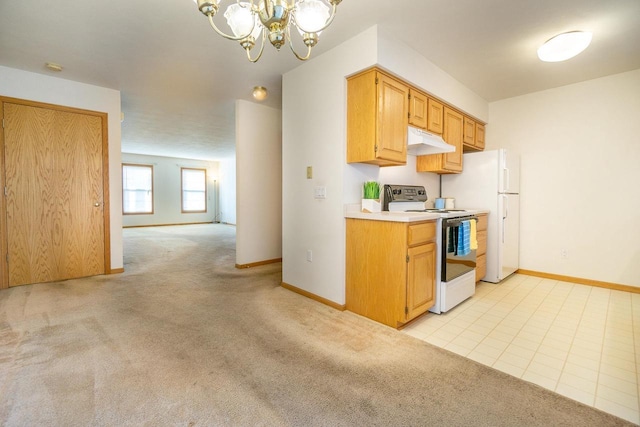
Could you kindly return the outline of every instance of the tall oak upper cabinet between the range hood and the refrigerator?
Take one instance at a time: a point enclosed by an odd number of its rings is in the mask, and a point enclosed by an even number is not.
[[[418,156],[418,172],[460,173],[462,172],[462,138],[464,136],[464,116],[446,105],[444,106],[444,132],[442,138],[456,147],[453,153]]]

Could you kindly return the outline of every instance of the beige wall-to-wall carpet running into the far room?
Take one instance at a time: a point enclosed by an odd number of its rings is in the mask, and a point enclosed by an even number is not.
[[[0,424],[630,425],[237,270],[231,226],[124,243],[124,274],[0,291]]]

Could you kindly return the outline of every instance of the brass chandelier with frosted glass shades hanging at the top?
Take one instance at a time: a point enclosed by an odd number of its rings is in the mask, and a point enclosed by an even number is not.
[[[230,2],[224,17],[233,35],[221,31],[213,22],[220,4],[225,0],[197,0],[198,9],[207,18],[211,27],[222,37],[240,42],[251,62],[262,56],[265,40],[278,50],[289,43],[293,54],[301,61],[311,56],[311,48],[318,43],[318,36],[333,22],[336,8],[342,0],[250,0]],[[291,27],[300,33],[307,46],[306,55],[296,52],[291,42]],[[260,50],[255,58],[251,50],[261,38]]]

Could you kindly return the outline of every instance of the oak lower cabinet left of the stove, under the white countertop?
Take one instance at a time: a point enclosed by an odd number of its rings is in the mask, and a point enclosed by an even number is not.
[[[346,308],[393,328],[435,302],[436,222],[347,218]]]

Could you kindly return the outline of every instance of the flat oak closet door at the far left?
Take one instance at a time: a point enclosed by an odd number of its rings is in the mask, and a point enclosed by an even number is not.
[[[9,286],[104,274],[102,119],[4,107]]]

